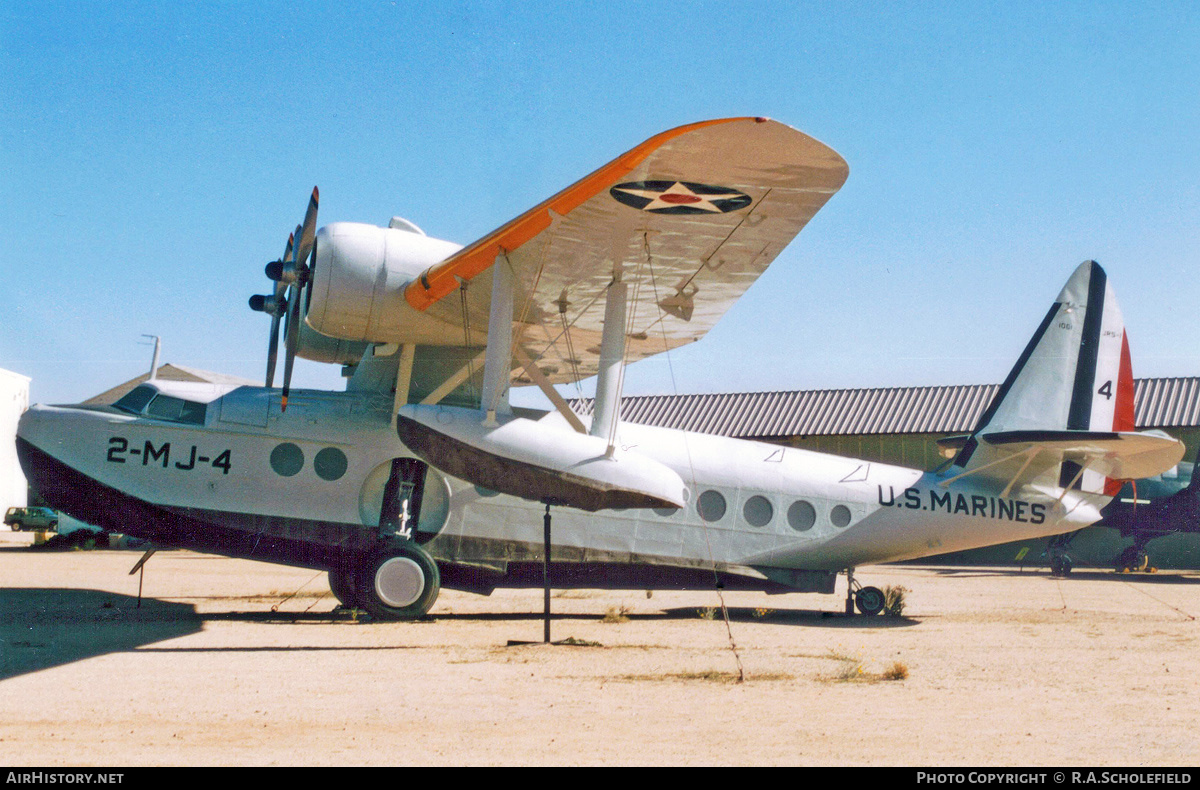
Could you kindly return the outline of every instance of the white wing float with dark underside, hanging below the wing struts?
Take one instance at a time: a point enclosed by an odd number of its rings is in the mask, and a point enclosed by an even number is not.
[[[427,463],[500,493],[592,511],[684,505],[673,469],[632,450],[608,456],[606,439],[565,423],[512,414],[490,421],[479,409],[409,405],[396,430]]]

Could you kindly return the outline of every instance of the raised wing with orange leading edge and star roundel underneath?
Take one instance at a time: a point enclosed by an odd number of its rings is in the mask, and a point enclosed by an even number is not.
[[[630,293],[626,361],[698,340],[847,174],[834,150],[776,121],[680,126],[430,268],[404,298],[452,324],[466,312],[468,336],[480,337],[492,267],[511,267],[515,354],[551,383],[577,381],[596,372],[618,271]],[[444,298],[463,287],[466,310]]]

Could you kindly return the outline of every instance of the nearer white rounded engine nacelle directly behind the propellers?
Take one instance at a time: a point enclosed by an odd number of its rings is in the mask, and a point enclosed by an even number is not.
[[[404,286],[462,247],[401,228],[334,222],[317,233],[308,324],[350,341],[394,342],[404,335]],[[304,336],[301,335],[301,339]]]

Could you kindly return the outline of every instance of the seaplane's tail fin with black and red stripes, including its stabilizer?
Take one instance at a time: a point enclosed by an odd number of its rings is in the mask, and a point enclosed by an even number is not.
[[[1105,474],[1144,477],[1176,450],[1182,454],[1174,439],[1132,433],[1133,393],[1121,309],[1108,275],[1086,261],[1063,286],[954,463],[964,474],[1006,480],[1006,492],[1036,479],[1115,496],[1121,483]]]

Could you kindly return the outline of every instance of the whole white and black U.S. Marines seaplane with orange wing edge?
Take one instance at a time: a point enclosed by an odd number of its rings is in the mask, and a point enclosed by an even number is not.
[[[89,523],[324,570],[344,605],[404,620],[442,587],[834,593],[841,574],[847,609],[877,614],[857,567],[1074,531],[1180,460],[1133,430],[1094,262],[937,469],[622,421],[625,367],[701,340],[847,174],[785,124],[709,120],[467,246],[401,217],[318,229],[314,188],[250,300],[271,319],[264,387],[151,381],[112,406],[34,406],[22,466]],[[344,391],[292,389],[296,357],[341,365]],[[556,385],[593,376],[577,414]],[[511,405],[526,385],[553,408]]]

